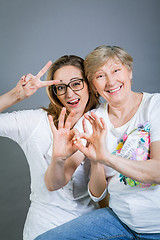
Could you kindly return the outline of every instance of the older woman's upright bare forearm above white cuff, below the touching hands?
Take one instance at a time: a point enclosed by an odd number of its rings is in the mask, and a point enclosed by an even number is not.
[[[89,181],[89,191],[94,196],[99,198],[106,189],[106,177],[104,167],[100,163],[91,162],[91,177]]]

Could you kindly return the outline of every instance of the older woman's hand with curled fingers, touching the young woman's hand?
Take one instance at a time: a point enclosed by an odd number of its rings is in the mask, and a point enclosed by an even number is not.
[[[86,139],[87,144],[83,146],[81,141],[75,141],[75,139],[74,144],[77,149],[83,152],[88,158],[95,162],[100,162],[108,153],[106,146],[106,123],[103,118],[98,118],[94,112],[91,112],[91,116],[84,114],[84,117],[91,123],[93,133],[88,133],[85,121],[83,121],[84,133],[81,133],[79,137],[81,139]]]

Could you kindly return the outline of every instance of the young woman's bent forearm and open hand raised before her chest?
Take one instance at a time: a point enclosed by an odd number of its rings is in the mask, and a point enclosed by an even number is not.
[[[72,137],[76,130],[70,130],[70,128],[75,114],[71,112],[64,123],[65,113],[66,109],[63,108],[58,129],[55,127],[52,117],[49,116],[53,133],[52,160],[45,174],[45,183],[49,191],[64,187],[84,159],[84,155],[76,152],[77,148],[72,143]]]

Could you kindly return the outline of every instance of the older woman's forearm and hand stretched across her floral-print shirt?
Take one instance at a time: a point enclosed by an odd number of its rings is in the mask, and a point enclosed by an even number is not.
[[[141,183],[160,184],[160,140],[150,143],[150,159],[131,160],[124,158],[123,155],[122,157],[119,157],[109,153],[107,149],[107,125],[104,119],[98,118],[93,112],[91,113],[91,117],[85,117],[92,124],[93,133],[92,135],[81,134],[81,138],[86,139],[91,144],[87,147],[76,144],[79,150],[81,150],[89,158],[111,167],[125,177]],[[132,150],[133,153],[137,150],[137,147],[138,145]]]

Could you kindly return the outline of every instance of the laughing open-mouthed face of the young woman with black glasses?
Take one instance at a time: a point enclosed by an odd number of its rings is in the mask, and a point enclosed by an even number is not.
[[[60,80],[61,84],[67,85],[74,80],[83,79],[83,76],[77,67],[64,66],[55,72],[54,79]],[[75,84],[77,83],[75,82]],[[73,82],[74,86],[76,86],[75,84]],[[70,86],[72,87],[72,84],[70,84]],[[61,89],[61,87],[59,89]],[[67,87],[66,93],[57,96],[57,98],[69,112],[74,110],[76,114],[81,116],[89,99],[88,86],[86,82],[84,82],[84,88],[79,91],[73,91],[70,87]]]

